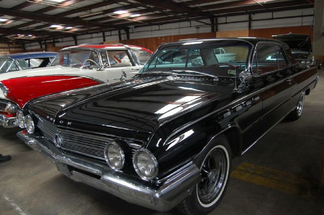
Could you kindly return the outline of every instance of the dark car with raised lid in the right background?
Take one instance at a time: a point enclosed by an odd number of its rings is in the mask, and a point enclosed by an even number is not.
[[[318,69],[322,67],[322,59],[316,59],[312,53],[312,45],[308,34],[280,34],[273,35],[274,39],[285,42],[291,49],[291,52],[297,63],[308,66],[316,65]]]

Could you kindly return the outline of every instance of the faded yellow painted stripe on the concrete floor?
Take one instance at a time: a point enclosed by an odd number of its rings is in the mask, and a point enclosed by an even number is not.
[[[292,173],[243,162],[231,177],[293,195],[310,196],[311,184]]]

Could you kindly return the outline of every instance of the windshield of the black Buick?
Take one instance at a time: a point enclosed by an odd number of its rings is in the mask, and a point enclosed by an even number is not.
[[[240,40],[184,42],[158,49],[141,73],[190,70],[234,77],[248,68],[250,49],[248,42]]]

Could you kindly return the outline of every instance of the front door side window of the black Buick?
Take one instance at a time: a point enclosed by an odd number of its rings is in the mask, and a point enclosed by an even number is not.
[[[257,65],[257,74],[262,75],[278,69],[277,54],[274,45],[258,45],[256,59],[253,65]],[[252,66],[253,67],[253,66]]]

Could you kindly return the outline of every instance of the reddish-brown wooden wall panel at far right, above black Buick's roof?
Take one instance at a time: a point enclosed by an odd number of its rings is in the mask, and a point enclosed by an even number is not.
[[[264,37],[272,39],[272,35],[286,34],[286,33],[301,33],[309,34],[310,26],[291,26],[291,27],[279,27],[279,28],[262,28],[262,29],[251,29],[249,36],[251,37]],[[313,30],[310,35],[311,41],[313,41]]]

